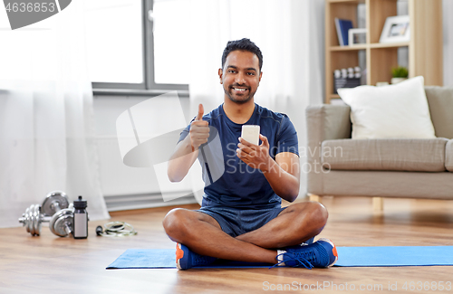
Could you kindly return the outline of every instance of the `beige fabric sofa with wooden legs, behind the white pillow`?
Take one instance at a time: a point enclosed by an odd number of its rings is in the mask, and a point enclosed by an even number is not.
[[[425,87],[434,139],[352,139],[350,108],[306,109],[308,194],[453,199],[453,88]]]

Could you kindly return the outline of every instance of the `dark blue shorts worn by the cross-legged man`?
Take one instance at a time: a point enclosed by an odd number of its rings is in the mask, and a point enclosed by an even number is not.
[[[241,209],[225,206],[204,206],[197,212],[212,216],[223,232],[232,237],[255,231],[269,223],[286,207],[268,209]]]

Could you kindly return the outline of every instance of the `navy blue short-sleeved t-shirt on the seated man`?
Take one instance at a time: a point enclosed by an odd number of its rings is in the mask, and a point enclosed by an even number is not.
[[[244,209],[280,207],[282,199],[272,190],[265,175],[236,156],[243,125],[226,117],[223,104],[203,116],[203,120],[209,123],[208,142],[198,152],[205,181],[203,205]],[[260,133],[269,141],[272,158],[280,152],[299,155],[297,133],[285,114],[255,104],[254,113],[245,125],[260,126]],[[190,125],[181,132],[179,141],[188,136],[189,128]]]

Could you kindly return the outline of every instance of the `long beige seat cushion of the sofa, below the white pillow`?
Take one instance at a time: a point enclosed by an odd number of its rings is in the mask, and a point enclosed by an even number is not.
[[[340,139],[322,144],[327,169],[444,172],[446,138]]]

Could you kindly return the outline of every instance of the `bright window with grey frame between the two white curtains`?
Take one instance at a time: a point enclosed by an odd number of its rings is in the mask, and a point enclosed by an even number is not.
[[[188,0],[85,0],[95,92],[187,91],[188,5]]]

